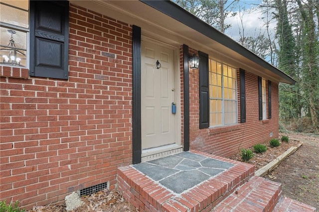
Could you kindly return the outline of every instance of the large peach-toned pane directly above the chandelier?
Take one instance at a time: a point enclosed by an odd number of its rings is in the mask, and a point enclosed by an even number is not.
[[[24,28],[29,27],[29,15],[27,11],[1,4],[0,13],[0,21],[4,23],[9,23]]]

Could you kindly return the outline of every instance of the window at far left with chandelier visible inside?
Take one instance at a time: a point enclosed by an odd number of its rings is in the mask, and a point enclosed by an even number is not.
[[[27,66],[29,1],[0,2],[0,64]]]

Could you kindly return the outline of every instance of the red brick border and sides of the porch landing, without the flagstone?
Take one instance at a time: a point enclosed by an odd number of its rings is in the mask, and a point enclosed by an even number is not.
[[[181,194],[173,193],[132,166],[120,167],[118,191],[141,212],[210,212],[254,175],[254,166],[250,164],[193,152],[234,166]]]

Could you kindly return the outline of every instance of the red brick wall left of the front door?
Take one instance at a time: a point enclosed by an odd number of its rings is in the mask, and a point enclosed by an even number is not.
[[[71,4],[69,32],[69,80],[1,66],[1,200],[28,208],[114,189],[132,162],[132,28]]]

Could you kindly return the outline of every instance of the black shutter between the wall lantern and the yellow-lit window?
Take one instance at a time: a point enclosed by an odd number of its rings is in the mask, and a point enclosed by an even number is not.
[[[199,56],[199,128],[209,127],[209,78],[208,54],[198,52]]]

